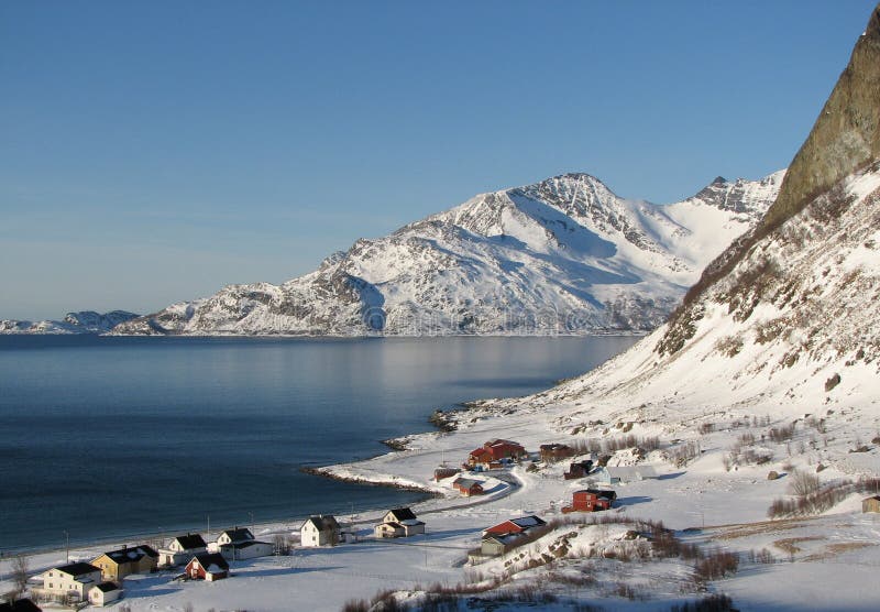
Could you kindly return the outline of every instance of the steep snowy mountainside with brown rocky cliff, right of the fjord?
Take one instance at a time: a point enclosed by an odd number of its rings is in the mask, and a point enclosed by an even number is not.
[[[851,470],[876,467],[846,448],[880,426],[880,8],[761,222],[669,323],[541,402],[691,427],[729,411],[820,415],[837,424],[826,448]]]

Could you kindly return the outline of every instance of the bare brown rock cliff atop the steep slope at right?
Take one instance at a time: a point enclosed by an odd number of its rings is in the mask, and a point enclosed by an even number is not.
[[[840,75],[828,101],[801,150],[795,155],[773,206],[756,228],[725,250],[704,271],[700,282],[686,294],[684,304],[671,317],[660,354],[674,353],[695,334],[695,321],[705,312],[705,302],[718,291],[732,300],[751,294],[751,285],[773,284],[769,276],[785,271],[787,262],[761,260],[758,253],[767,242],[787,241],[798,248],[815,239],[814,233],[780,232],[789,220],[803,217],[827,219],[834,223],[848,215],[857,196],[848,192],[858,173],[870,174],[880,159],[880,7],[876,8],[865,33],[856,43],[849,65]],[[865,194],[860,197],[864,199]],[[744,265],[751,263],[748,272]],[[736,272],[736,273],[735,273]],[[739,278],[739,281],[732,281]],[[736,286],[729,286],[735,282]],[[752,296],[749,299],[760,299]],[[738,308],[730,304],[732,309]]]

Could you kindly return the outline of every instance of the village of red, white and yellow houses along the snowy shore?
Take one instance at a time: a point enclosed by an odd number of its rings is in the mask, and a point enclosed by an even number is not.
[[[587,453],[588,455],[588,453]],[[557,463],[571,460],[565,480],[590,478],[605,485],[622,479],[650,478],[646,468],[609,468],[594,465],[592,455],[586,458],[578,450],[562,444],[542,445],[537,453],[529,453],[520,444],[506,439],[486,441],[470,452],[461,467],[441,466],[435,470],[433,480],[446,482],[462,498],[485,494],[485,477],[504,472],[514,466],[528,462]],[[529,468],[530,469],[530,468]],[[571,503],[562,513],[598,512],[613,507],[617,493],[612,489],[587,488],[574,491]],[[547,522],[536,515],[510,517],[482,529],[481,546],[468,554],[468,564],[480,562],[505,555],[547,533]],[[426,533],[426,523],[409,507],[388,510],[382,520],[364,533],[352,525],[343,528],[337,517],[317,514],[305,520],[298,534],[299,548],[320,548],[340,544],[356,544],[364,538],[408,538]],[[0,604],[0,612],[22,610],[80,610],[120,604],[125,597],[125,579],[145,573],[162,573],[169,581],[200,580],[215,582],[234,577],[235,564],[258,557],[292,555],[296,548],[290,539],[276,537],[261,542],[253,528],[234,526],[222,531],[212,542],[199,533],[186,533],[163,542],[155,548],[151,544],[123,546],[106,551],[90,560],[75,560],[29,576],[26,591],[15,593],[11,601]],[[25,589],[23,589],[24,591]],[[24,597],[28,594],[29,597]],[[38,605],[37,605],[38,604]],[[42,608],[41,608],[42,606]]]

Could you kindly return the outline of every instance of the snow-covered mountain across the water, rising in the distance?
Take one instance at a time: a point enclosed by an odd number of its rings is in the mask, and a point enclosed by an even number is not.
[[[282,285],[230,285],[120,325],[130,335],[358,336],[650,330],[776,198],[784,172],[717,178],[669,206],[587,174],[480,195],[359,240]]]

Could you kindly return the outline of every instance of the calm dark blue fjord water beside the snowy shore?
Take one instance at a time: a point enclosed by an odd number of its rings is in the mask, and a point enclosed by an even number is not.
[[[411,503],[300,468],[386,452],[435,408],[538,391],[635,340],[0,336],[0,553]]]

